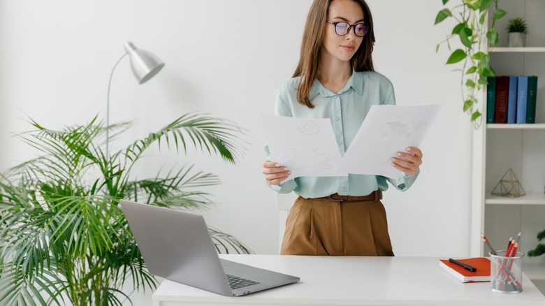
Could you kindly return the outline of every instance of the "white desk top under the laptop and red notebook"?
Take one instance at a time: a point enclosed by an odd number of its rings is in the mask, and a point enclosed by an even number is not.
[[[523,278],[523,292],[493,293],[490,283],[460,283],[433,257],[325,257],[220,255],[295,275],[300,282],[240,298],[165,280],[154,306],[174,305],[545,305],[545,296]]]

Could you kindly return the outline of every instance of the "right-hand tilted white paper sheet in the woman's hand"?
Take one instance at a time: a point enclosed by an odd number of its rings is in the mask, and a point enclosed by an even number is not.
[[[396,178],[391,158],[419,147],[442,105],[373,105],[342,157],[339,170]]]

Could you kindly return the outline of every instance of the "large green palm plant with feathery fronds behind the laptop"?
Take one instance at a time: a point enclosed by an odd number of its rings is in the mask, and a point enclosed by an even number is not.
[[[0,305],[122,305],[127,280],[154,289],[119,199],[207,207],[210,195],[198,189],[219,179],[184,165],[137,180],[136,163],[154,144],[196,147],[235,163],[245,135],[233,122],[188,114],[110,153],[106,135],[119,138],[129,122],[105,126],[95,117],[61,131],[32,125],[17,137],[42,156],[0,176]],[[249,253],[231,235],[210,232],[218,252]]]

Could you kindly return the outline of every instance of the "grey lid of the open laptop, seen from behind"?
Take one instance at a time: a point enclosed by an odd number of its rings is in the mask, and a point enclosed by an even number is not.
[[[203,216],[119,201],[153,275],[231,295]]]

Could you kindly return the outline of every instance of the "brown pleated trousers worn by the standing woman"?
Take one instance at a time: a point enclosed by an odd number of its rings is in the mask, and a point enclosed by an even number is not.
[[[280,254],[393,256],[384,205],[299,196],[286,219]]]

